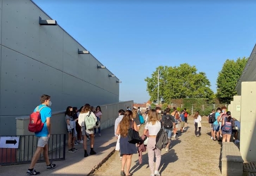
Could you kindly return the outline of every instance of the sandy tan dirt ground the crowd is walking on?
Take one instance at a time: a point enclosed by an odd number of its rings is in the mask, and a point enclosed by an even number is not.
[[[140,128],[140,134],[144,125]],[[211,140],[210,127],[206,118],[202,118],[201,136],[195,137],[193,117],[188,118],[186,133],[179,135],[170,144],[169,152],[162,150],[160,164],[161,176],[220,176],[221,143]],[[91,176],[119,176],[121,161],[116,151]],[[143,153],[143,164],[138,163],[138,154],[133,155],[131,173],[134,176],[150,176],[147,151]]]

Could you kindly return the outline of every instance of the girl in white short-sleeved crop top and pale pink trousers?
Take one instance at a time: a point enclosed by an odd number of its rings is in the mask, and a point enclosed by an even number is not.
[[[143,134],[146,136],[147,131],[149,133],[148,137],[148,164],[150,167],[151,175],[150,176],[160,176],[158,171],[160,162],[161,162],[161,150],[156,148],[156,137],[157,133],[161,129],[161,122],[158,118],[158,113],[156,110],[150,110],[148,113],[148,122],[145,125]],[[156,156],[156,167],[154,170],[154,155]]]

